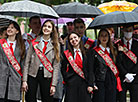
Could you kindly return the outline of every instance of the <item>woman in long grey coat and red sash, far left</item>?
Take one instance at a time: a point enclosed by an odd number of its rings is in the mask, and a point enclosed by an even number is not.
[[[19,25],[11,21],[0,39],[0,102],[20,102],[25,45]]]

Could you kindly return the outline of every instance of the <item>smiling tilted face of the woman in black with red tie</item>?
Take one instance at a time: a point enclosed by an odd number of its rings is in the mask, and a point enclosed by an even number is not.
[[[79,47],[80,40],[81,40],[81,38],[78,35],[76,35],[75,33],[72,33],[69,36],[69,42],[74,48]]]

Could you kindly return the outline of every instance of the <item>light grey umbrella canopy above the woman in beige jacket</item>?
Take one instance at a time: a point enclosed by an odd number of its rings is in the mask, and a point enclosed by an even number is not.
[[[36,3],[30,0],[21,0],[15,2],[4,3],[0,7],[0,14],[12,15],[18,17],[51,17],[58,18],[57,13],[50,7],[44,4]]]

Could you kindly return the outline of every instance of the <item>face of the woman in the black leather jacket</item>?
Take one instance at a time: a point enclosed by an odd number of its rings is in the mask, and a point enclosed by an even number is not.
[[[109,35],[108,32],[106,31],[101,31],[100,32],[100,36],[99,36],[99,40],[101,42],[101,45],[107,45],[108,41],[109,41]]]

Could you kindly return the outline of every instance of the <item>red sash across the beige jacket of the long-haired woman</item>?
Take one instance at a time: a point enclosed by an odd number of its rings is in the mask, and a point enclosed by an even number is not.
[[[51,62],[48,60],[48,58],[45,56],[44,53],[42,53],[39,49],[37,49],[37,45],[39,42],[35,42],[36,38],[34,40],[32,40],[32,45],[33,48],[38,56],[38,58],[40,59],[41,63],[43,64],[43,66],[49,71],[49,72],[53,72],[53,67]]]

